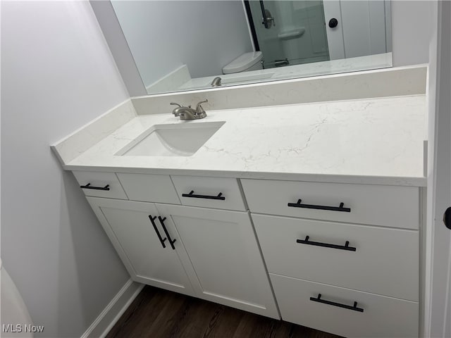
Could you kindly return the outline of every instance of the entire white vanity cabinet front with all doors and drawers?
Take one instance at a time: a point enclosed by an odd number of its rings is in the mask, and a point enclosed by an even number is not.
[[[418,337],[419,188],[76,177],[114,188],[83,189],[133,280],[346,337]]]

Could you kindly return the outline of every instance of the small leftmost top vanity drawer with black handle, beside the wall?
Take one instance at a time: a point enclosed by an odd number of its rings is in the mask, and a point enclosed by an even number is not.
[[[128,199],[115,173],[73,171],[86,196]]]

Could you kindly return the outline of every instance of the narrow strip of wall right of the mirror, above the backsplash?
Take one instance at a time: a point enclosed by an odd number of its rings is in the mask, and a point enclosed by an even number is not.
[[[392,1],[393,66],[427,63],[436,1]]]

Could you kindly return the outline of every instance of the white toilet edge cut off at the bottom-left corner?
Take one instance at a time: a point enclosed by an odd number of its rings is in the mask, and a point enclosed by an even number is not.
[[[25,325],[32,325],[30,313],[23,302],[22,296],[14,284],[8,272],[1,265],[0,259],[0,284],[1,284],[1,337],[33,337],[32,332],[27,332]],[[5,325],[5,326],[4,326]],[[7,326],[10,325],[10,326]],[[12,325],[12,326],[11,326]],[[16,326],[20,325],[20,326]],[[9,327],[9,332],[5,332]],[[29,327],[29,326],[28,326]]]

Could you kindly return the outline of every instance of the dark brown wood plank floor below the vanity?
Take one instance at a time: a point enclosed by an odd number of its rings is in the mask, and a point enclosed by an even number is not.
[[[107,338],[338,338],[228,306],[146,286]]]

